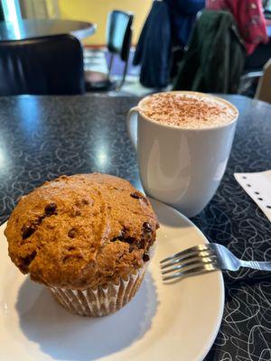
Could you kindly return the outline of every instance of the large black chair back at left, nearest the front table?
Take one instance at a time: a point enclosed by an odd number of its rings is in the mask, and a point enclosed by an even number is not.
[[[83,51],[75,37],[0,42],[0,96],[84,91]]]

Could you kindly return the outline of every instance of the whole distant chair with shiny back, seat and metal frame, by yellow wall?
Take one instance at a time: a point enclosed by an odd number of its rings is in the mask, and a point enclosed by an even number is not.
[[[86,90],[103,91],[113,88],[121,88],[126,79],[130,46],[132,40],[132,23],[134,15],[119,10],[108,14],[107,19],[107,50],[110,53],[110,60],[107,74],[98,71],[85,71]],[[110,79],[110,73],[114,57],[118,55],[125,62],[122,80],[119,84]]]

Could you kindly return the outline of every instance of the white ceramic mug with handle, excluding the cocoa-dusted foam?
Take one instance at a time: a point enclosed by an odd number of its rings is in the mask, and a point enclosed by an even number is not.
[[[212,97],[201,93],[201,97]],[[193,217],[209,203],[220,185],[235,134],[237,116],[230,123],[187,129],[158,123],[144,116],[139,106],[127,116],[127,131],[135,146],[145,193]]]

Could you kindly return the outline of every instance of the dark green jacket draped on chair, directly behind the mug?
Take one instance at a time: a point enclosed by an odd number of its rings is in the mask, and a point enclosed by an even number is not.
[[[228,12],[204,10],[180,64],[175,90],[236,93],[245,48]]]

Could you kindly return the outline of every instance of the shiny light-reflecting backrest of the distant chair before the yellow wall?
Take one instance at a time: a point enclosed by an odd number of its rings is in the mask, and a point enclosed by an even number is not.
[[[134,15],[120,10],[113,10],[107,19],[107,49],[119,54],[126,61],[132,40],[132,23]]]

